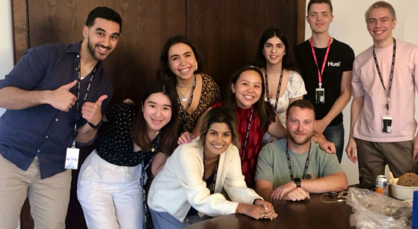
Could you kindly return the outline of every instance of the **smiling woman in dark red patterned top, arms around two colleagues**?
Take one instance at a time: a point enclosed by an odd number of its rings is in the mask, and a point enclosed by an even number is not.
[[[286,136],[286,128],[279,121],[273,106],[266,102],[263,75],[258,67],[245,66],[238,69],[231,77],[231,84],[226,99],[208,108],[225,107],[235,111],[238,134],[240,137],[240,156],[242,174],[248,187],[254,186],[258,153],[262,148],[265,133],[281,139]],[[206,110],[206,111],[208,111]],[[198,135],[203,117],[199,118],[192,133],[184,132],[179,137],[179,144],[190,142]],[[333,147],[331,142],[319,142],[322,148]],[[327,151],[327,150],[326,150]],[[330,151],[330,150],[328,150]]]

